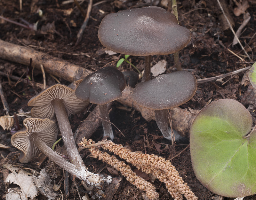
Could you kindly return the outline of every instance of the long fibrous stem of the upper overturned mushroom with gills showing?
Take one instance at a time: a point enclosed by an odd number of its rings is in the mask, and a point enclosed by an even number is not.
[[[88,173],[90,173],[85,167],[84,162],[76,148],[74,135],[73,135],[73,132],[68,120],[68,115],[63,105],[62,99],[52,100],[52,105],[56,114],[56,118],[59,123],[61,136],[65,144],[70,162],[76,165],[77,167],[82,168],[84,171],[87,171]],[[95,179],[97,179],[97,177],[99,176],[91,173],[91,175],[88,178],[88,181],[93,182]]]

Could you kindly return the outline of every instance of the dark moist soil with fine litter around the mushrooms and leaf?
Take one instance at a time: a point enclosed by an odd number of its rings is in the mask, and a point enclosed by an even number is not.
[[[21,10],[20,2],[22,4]],[[18,0],[1,0],[0,15],[21,23],[24,23],[22,22],[22,19],[28,21],[29,24],[37,23],[37,31],[28,30],[0,19],[1,40],[30,47],[34,50],[67,60],[70,63],[74,63],[92,71],[100,69],[110,61],[124,58],[124,55],[109,55],[105,53],[106,49],[101,45],[98,39],[98,27],[104,16],[108,13],[118,12],[119,10],[140,8],[150,5],[160,6],[166,10],[172,11],[171,3],[169,3],[168,9],[167,1],[94,0],[90,18],[84,30],[82,40],[75,45],[77,40],[76,35],[83,24],[84,17],[73,1],[67,3],[66,1],[64,2],[61,0],[21,0],[20,2]],[[256,51],[256,3],[254,0],[248,2],[249,7],[246,12],[250,13],[251,19],[243,29],[240,41],[252,60],[247,58],[239,44],[232,47],[234,35],[229,28],[225,28],[227,23],[223,22],[223,18],[220,17],[222,12],[217,1],[187,0],[177,2],[179,23],[181,26],[187,27],[192,33],[191,41],[183,50],[180,50],[179,53],[183,69],[193,73],[197,79],[202,79],[229,73],[252,65],[252,61],[255,61],[256,59],[254,54]],[[234,14],[234,9],[237,7],[235,1],[223,0],[221,1],[221,4],[224,7],[224,11],[228,13],[230,19],[232,19],[234,25],[233,28],[236,31],[244,20],[243,14],[240,16]],[[88,2],[83,1],[81,7],[86,13]],[[39,17],[39,9],[43,11],[43,17]],[[87,56],[85,56],[85,54]],[[143,70],[143,57],[130,56],[129,59],[140,71]],[[152,56],[152,65],[155,65],[158,61],[163,59],[167,61],[165,73],[176,71],[173,55]],[[244,61],[242,61],[242,59],[244,59]],[[119,69],[124,71],[136,71],[127,63],[123,63]],[[28,75],[28,66],[4,59],[0,59],[0,70],[5,74],[20,78],[26,78]],[[244,104],[250,111],[254,125],[256,116],[254,112],[255,96],[254,98],[253,96],[246,96],[248,93],[248,85],[242,84],[243,76],[244,72],[225,77],[221,81],[208,81],[198,84],[195,96],[188,103],[181,105],[180,107],[201,110],[209,101],[232,98]],[[69,84],[66,80],[59,77],[55,78],[57,78],[60,83]],[[42,88],[37,87],[36,85],[32,87],[27,84],[26,81],[18,82],[4,74],[0,75],[0,79],[10,107],[9,115],[13,115],[20,111],[30,111],[31,108],[27,106],[28,100],[40,92]],[[33,79],[35,82],[43,84],[43,76],[40,70],[34,70]],[[55,83],[57,83],[56,79],[46,73],[46,85],[50,86]],[[94,107],[95,106],[92,105],[88,110],[92,111]],[[205,188],[196,179],[191,165],[189,148],[183,151],[179,156],[175,157],[186,148],[189,139],[186,139],[181,143],[176,143],[176,145],[171,145],[171,141],[166,140],[161,136],[161,132],[157,128],[155,121],[148,122],[142,118],[139,112],[117,102],[114,102],[111,108],[110,120],[124,134],[123,136],[114,127],[115,138],[113,142],[122,144],[132,151],[142,151],[143,153],[156,154],[166,159],[170,159],[180,173],[180,176],[186,183],[188,183],[188,186],[199,200],[219,199],[218,196]],[[0,114],[1,116],[5,114],[2,104],[0,104]],[[81,121],[84,120],[87,115],[87,112],[81,112],[72,115],[69,118],[73,132],[76,131]],[[17,123],[20,127],[23,126],[22,121],[25,118],[25,116],[18,117]],[[99,127],[92,135],[92,140],[101,140],[102,133],[102,127]],[[0,199],[5,199],[8,188],[15,187],[15,184],[7,185],[4,182],[4,169],[2,165],[6,163],[19,167],[20,169],[26,168],[29,172],[40,172],[41,169],[45,168],[46,172],[50,175],[52,184],[60,186],[59,190],[56,191],[58,196],[56,196],[55,199],[80,199],[84,196],[83,188],[77,187],[77,185],[79,185],[79,180],[72,180],[72,176],[70,176],[68,180],[68,189],[64,189],[63,171],[58,166],[53,165],[52,161],[45,159],[41,165],[39,165],[38,158],[34,158],[29,163],[21,164],[18,159],[20,152],[11,145],[10,139],[11,132],[9,130],[4,131],[1,128],[0,143],[9,146],[10,148],[0,149],[0,170],[2,172],[0,173]],[[59,142],[56,150],[60,150],[61,147],[63,148],[63,143]],[[81,151],[81,155],[85,165],[88,166],[90,171],[94,173],[100,172],[103,174],[111,174],[113,177],[122,178],[120,186],[113,196],[114,200],[145,199],[145,195],[135,186],[126,181],[120,173],[112,170],[109,165],[106,165],[102,161],[91,158],[89,156],[89,151],[83,150]],[[135,169],[135,167],[132,167],[132,169]],[[160,195],[159,199],[172,199],[163,183],[156,179],[153,184]],[[95,193],[97,193],[97,191],[91,192],[88,196],[95,196]],[[96,197],[96,199],[97,198],[99,199],[99,197]],[[36,196],[36,199],[44,200],[47,198],[39,194]],[[224,199],[228,198],[224,197]],[[255,196],[246,197],[244,199],[255,199]]]

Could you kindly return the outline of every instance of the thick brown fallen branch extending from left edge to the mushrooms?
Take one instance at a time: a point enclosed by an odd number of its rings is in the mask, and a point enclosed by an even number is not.
[[[42,64],[47,73],[61,77],[70,82],[84,78],[92,73],[90,70],[74,65],[68,61],[41,53],[34,49],[5,42],[1,39],[0,58],[27,66],[29,65],[30,58],[32,58],[32,67],[35,66],[37,69],[41,70],[40,64]]]

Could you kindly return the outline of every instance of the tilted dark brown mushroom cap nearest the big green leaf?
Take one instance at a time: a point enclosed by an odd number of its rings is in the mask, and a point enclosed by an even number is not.
[[[178,71],[138,83],[133,90],[132,99],[148,109],[170,109],[189,101],[196,88],[196,77],[192,73]]]

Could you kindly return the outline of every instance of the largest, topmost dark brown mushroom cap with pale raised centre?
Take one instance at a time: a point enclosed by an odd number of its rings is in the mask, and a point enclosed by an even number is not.
[[[108,49],[132,56],[167,55],[183,49],[191,39],[186,27],[163,8],[128,9],[105,16],[98,37]]]

